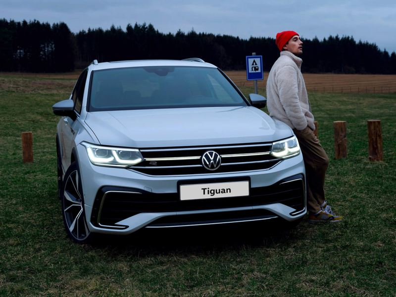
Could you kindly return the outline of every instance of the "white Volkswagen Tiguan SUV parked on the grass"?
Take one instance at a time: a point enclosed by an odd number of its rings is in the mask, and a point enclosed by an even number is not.
[[[53,105],[66,232],[200,226],[306,213],[296,137],[201,59],[98,63]],[[256,106],[256,107],[254,107]]]

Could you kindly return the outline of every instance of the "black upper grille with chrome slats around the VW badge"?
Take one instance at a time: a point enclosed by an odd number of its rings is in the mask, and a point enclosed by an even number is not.
[[[148,175],[194,175],[225,172],[266,170],[278,159],[270,154],[271,144],[245,144],[190,148],[142,148],[145,161],[129,169]],[[201,156],[208,150],[220,154],[222,164],[216,170],[202,166]]]

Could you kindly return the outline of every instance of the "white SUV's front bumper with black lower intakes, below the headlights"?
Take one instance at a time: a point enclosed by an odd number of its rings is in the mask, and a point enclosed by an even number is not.
[[[306,213],[301,154],[268,170],[189,176],[149,176],[128,169],[93,165],[78,146],[87,222],[92,232],[130,234],[165,228],[283,218]],[[180,201],[179,184],[248,180],[250,195]]]

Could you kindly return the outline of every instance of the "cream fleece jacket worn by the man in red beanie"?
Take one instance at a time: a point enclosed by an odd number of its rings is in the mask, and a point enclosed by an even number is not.
[[[290,51],[281,51],[267,79],[269,115],[292,129],[315,130],[311,105],[301,74],[302,59]]]

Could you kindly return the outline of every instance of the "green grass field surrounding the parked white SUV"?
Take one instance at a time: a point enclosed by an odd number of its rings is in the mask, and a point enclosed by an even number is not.
[[[84,246],[66,237],[56,197],[51,105],[73,84],[0,75],[0,296],[396,295],[396,94],[309,93],[340,223],[145,232]],[[382,120],[384,162],[368,161],[368,119]],[[347,121],[341,160],[336,120]],[[22,163],[24,131],[33,132],[31,164]]]

